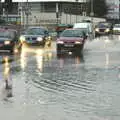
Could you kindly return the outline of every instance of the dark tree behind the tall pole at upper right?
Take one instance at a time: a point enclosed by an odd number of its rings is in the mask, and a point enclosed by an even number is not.
[[[89,0],[87,3],[87,14],[91,13],[91,2],[93,1],[93,12],[95,17],[104,17],[107,14],[108,6],[105,0]]]

